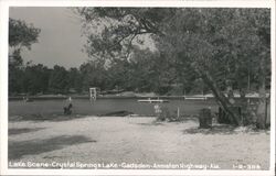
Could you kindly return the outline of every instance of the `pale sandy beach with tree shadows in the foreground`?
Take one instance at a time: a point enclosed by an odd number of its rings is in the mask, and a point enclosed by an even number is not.
[[[9,122],[9,161],[56,163],[214,164],[220,169],[269,167],[269,133],[214,125],[197,119],[85,117],[66,121]],[[247,166],[250,165],[250,166]]]

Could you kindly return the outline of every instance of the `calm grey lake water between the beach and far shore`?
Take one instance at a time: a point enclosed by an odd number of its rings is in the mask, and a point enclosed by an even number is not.
[[[130,111],[139,116],[153,116],[155,103],[138,102],[137,99],[98,99],[91,102],[88,99],[73,99],[73,114],[105,114],[114,111]],[[9,116],[28,114],[63,114],[65,100],[35,100],[33,102],[23,102],[22,100],[9,101]],[[170,112],[180,114],[198,114],[202,108],[211,107],[212,112],[217,111],[217,105],[214,100],[169,100],[166,106]]]

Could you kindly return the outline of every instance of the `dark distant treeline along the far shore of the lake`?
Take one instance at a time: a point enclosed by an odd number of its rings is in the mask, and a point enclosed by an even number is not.
[[[104,61],[87,62],[78,68],[66,69],[59,65],[53,68],[42,64],[26,63],[24,65],[20,54],[14,53],[9,64],[9,95],[81,95],[87,92],[91,87],[98,87],[102,91],[125,90],[174,96],[210,92],[203,81],[198,78],[197,73],[187,67],[183,76],[182,66],[171,67],[170,59],[162,54],[137,51],[136,57],[134,61],[117,59],[112,64]],[[257,90],[257,77],[247,75],[243,79],[243,87],[250,87],[253,91]],[[224,90],[226,90],[226,81],[223,76],[221,80],[217,80]],[[234,89],[238,89],[241,82],[233,82],[233,85]]]

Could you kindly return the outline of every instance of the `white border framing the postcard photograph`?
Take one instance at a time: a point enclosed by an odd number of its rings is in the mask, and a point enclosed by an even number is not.
[[[181,169],[11,169],[8,168],[8,20],[10,7],[193,7],[272,9],[272,127],[269,170],[181,170]],[[0,175],[275,175],[275,1],[274,0],[0,0]],[[256,141],[257,142],[257,141]]]

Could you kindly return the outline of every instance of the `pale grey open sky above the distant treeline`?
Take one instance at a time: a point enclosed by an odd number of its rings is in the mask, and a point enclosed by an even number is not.
[[[67,8],[10,8],[10,18],[23,20],[41,29],[39,42],[31,51],[24,50],[24,63],[43,64],[47,67],[61,65],[65,68],[79,67],[88,61],[82,52],[81,21]]]

